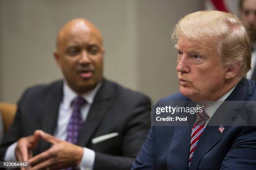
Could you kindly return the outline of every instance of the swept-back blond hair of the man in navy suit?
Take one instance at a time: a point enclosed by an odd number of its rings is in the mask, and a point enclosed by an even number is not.
[[[212,47],[217,44],[225,65],[241,63],[240,73],[245,76],[251,69],[250,39],[242,21],[233,14],[207,10],[198,11],[179,20],[172,32],[172,39],[185,37]]]

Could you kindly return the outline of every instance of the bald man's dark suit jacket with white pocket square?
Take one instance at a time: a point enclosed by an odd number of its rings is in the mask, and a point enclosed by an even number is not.
[[[5,136],[0,156],[12,143],[41,129],[53,134],[63,96],[63,81],[28,88],[18,102],[15,120]],[[120,85],[103,80],[82,127],[78,145],[95,150],[94,169],[131,168],[150,129],[151,102],[148,97]],[[92,144],[92,138],[109,133],[117,137]],[[41,140],[34,155],[47,150],[49,143]]]

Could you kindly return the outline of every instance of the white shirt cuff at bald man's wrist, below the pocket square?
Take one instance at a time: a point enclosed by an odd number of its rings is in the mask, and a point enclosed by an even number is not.
[[[79,163],[80,170],[93,170],[95,161],[95,152],[91,149],[84,148],[82,160]]]

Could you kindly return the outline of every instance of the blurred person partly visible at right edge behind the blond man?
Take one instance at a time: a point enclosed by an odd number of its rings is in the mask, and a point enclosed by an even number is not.
[[[241,19],[251,40],[251,70],[247,77],[256,81],[256,0],[240,0],[239,7]]]

